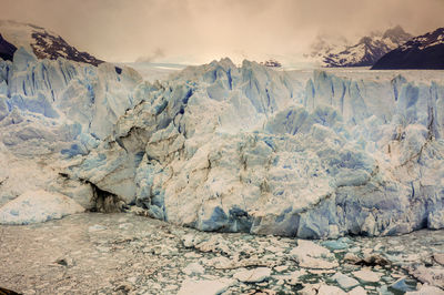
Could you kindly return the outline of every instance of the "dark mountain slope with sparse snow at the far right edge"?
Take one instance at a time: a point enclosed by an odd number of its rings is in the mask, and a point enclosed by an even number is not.
[[[382,57],[372,69],[444,69],[444,28],[415,37]]]

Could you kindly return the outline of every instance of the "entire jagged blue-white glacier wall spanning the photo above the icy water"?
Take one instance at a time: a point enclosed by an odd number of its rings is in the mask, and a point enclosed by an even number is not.
[[[19,49],[0,61],[0,93],[3,204],[42,189],[202,231],[306,238],[444,227],[436,73],[223,59],[149,82]]]

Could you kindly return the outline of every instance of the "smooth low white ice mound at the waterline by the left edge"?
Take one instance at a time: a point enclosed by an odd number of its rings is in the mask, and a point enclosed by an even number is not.
[[[27,192],[0,207],[0,224],[30,224],[84,212],[65,195],[43,190]]]

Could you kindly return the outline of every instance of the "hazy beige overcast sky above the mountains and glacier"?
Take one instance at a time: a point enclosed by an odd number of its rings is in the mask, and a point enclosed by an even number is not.
[[[34,23],[108,61],[209,62],[297,57],[317,34],[350,40],[401,24],[444,27],[444,0],[0,0],[0,18]]]

